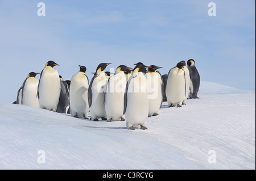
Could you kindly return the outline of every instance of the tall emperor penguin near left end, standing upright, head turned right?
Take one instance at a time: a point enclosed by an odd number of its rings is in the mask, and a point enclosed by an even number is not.
[[[38,100],[40,108],[56,111],[60,98],[61,83],[58,71],[53,68],[54,61],[48,61],[40,74],[38,84]],[[65,90],[63,89],[64,93]]]

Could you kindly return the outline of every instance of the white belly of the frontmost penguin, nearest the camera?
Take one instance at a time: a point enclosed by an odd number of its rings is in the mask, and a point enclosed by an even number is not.
[[[147,82],[144,75],[132,78],[127,90],[127,107],[125,118],[127,127],[146,127],[148,116]]]

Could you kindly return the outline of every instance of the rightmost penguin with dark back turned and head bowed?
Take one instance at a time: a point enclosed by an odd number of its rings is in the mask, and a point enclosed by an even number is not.
[[[193,59],[189,59],[188,62],[188,70],[190,76],[190,94],[189,99],[197,99],[197,92],[199,91],[200,86],[200,75],[196,69],[195,61]]]

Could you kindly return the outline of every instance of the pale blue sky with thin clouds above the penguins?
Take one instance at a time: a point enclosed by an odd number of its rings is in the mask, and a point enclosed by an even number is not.
[[[30,71],[48,60],[64,79],[101,62],[162,66],[195,60],[201,81],[255,91],[255,1],[0,0],[0,103],[11,103]],[[216,16],[208,3],[216,3]],[[38,76],[39,78],[39,76]]]

